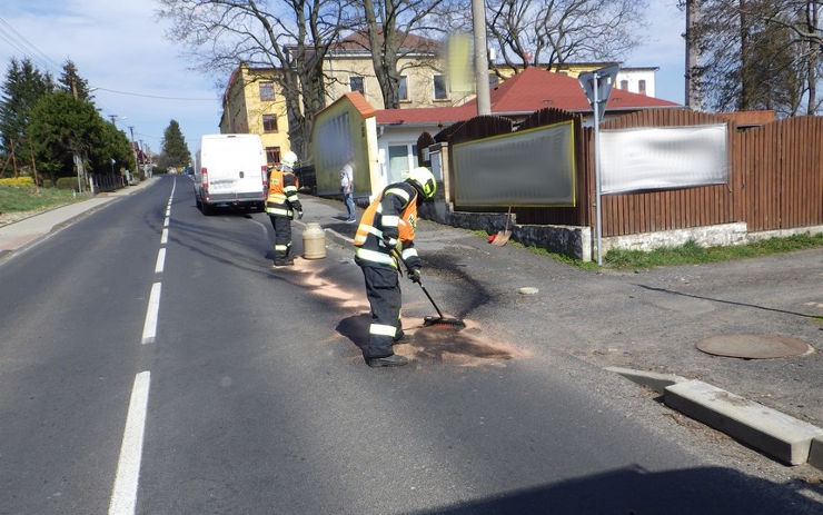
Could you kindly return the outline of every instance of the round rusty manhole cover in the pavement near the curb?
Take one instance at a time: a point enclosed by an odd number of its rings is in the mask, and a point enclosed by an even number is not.
[[[706,354],[746,359],[785,358],[812,350],[803,340],[780,335],[721,335],[697,343]]]

